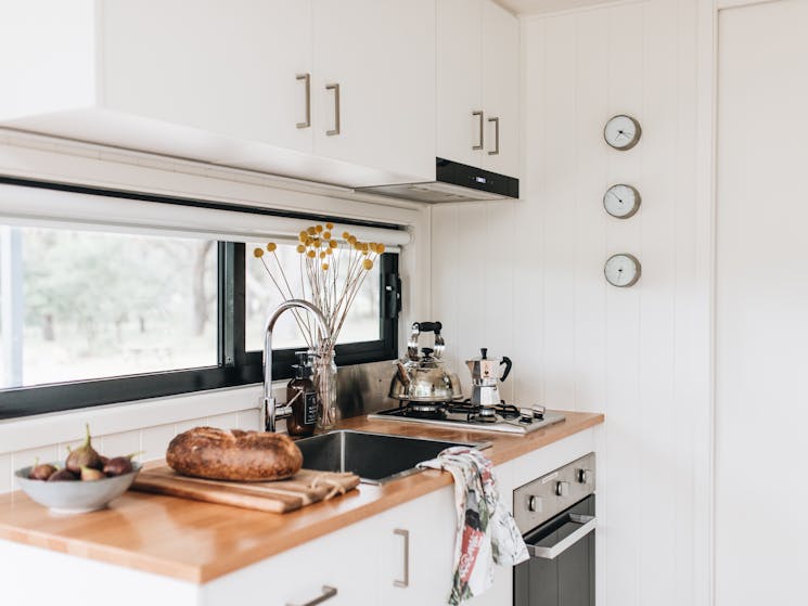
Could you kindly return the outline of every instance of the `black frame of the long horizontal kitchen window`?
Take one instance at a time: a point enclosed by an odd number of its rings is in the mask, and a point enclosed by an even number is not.
[[[334,221],[343,224],[390,229],[388,224],[352,221],[338,217],[317,216],[305,212],[279,212],[251,206],[146,195],[128,191],[85,188],[65,183],[29,181],[7,177],[0,177],[0,183],[239,212],[291,217],[309,221]],[[245,348],[245,248],[246,245],[243,243],[217,243],[218,360],[216,366],[0,389],[0,421],[104,404],[188,395],[195,391],[239,387],[262,382],[262,352],[247,351]],[[394,360],[398,356],[398,314],[401,309],[401,280],[398,273],[398,254],[385,253],[380,258],[380,263],[381,338],[372,341],[337,345],[335,361],[339,366]],[[299,349],[298,347],[277,349],[273,351],[273,378],[288,378],[292,376],[292,364],[295,362],[294,352]]]

